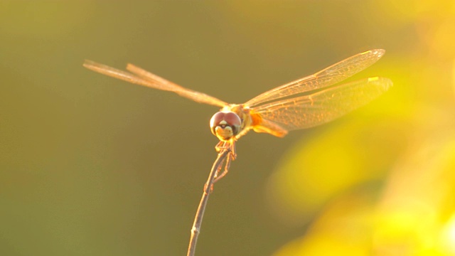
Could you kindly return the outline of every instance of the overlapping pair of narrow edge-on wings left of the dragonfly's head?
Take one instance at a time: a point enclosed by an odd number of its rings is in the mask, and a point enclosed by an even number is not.
[[[160,78],[158,75],[149,73],[132,64],[128,64],[127,69],[136,75],[128,73],[126,71],[117,70],[116,68],[111,68],[107,65],[95,63],[92,60],[85,60],[85,63],[83,65],[85,68],[96,71],[97,73],[101,73],[103,75],[109,75],[112,78],[118,78],[127,82],[132,82],[137,85],[143,85],[158,90],[176,92],[178,95],[186,97],[190,100],[194,100],[195,102],[215,105],[218,107],[224,107],[225,105],[228,105],[228,103],[223,102],[223,100],[218,100],[217,98],[206,95],[205,93],[196,92],[185,87],[181,87],[180,85],[176,85],[173,82],[165,80],[164,78]]]

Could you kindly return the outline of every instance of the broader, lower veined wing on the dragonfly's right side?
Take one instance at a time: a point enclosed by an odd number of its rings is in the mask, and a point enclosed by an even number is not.
[[[287,130],[304,129],[330,122],[366,105],[391,86],[388,78],[366,78],[311,95],[259,105],[252,108],[252,113]],[[259,125],[267,127],[267,122]]]

